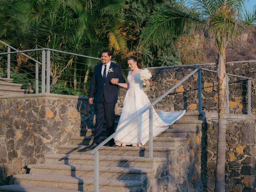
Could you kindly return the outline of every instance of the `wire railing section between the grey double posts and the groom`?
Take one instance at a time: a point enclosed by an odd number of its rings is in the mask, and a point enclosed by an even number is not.
[[[98,60],[63,52],[51,52],[50,92],[87,96]]]

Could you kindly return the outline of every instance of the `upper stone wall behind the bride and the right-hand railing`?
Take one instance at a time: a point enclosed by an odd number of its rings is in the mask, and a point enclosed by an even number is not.
[[[150,101],[156,100],[176,83],[190,74],[196,67],[216,70],[215,64],[197,66],[169,66],[164,68],[149,68],[152,73],[150,88],[145,89]],[[252,78],[252,114],[256,114],[256,61],[228,62],[227,72]],[[230,76],[229,106],[231,114],[247,114],[248,93],[247,81]],[[202,71],[202,108],[204,111],[217,112],[218,92],[217,77],[213,72]],[[120,89],[117,105],[121,111],[126,89]],[[166,96],[155,106],[158,110],[198,110],[198,74],[188,78],[181,86]]]

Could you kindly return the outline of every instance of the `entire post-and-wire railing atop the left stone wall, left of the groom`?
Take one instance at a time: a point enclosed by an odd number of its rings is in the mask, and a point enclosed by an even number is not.
[[[58,50],[0,49],[0,76],[33,93],[87,96],[98,58]]]

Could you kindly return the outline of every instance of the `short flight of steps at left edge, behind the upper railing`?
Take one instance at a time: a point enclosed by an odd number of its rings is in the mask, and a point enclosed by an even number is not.
[[[11,78],[0,77],[0,96],[29,94],[33,90],[21,89],[22,84],[12,83]]]

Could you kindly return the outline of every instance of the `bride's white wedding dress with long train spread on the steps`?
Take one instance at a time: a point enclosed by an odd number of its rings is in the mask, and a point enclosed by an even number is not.
[[[127,81],[129,88],[124,98],[124,104],[122,113],[118,122],[116,131],[120,129],[129,120],[133,119],[124,130],[118,133],[114,140],[115,142],[122,142],[130,144],[146,144],[149,140],[149,111],[138,116],[137,114],[144,108],[150,105],[148,96],[142,89],[142,80],[140,80],[139,74],[135,74],[132,78],[130,76],[131,71],[128,73]],[[153,136],[164,132],[171,124],[181,118],[185,113],[185,110],[181,112],[159,112],[153,109]]]

